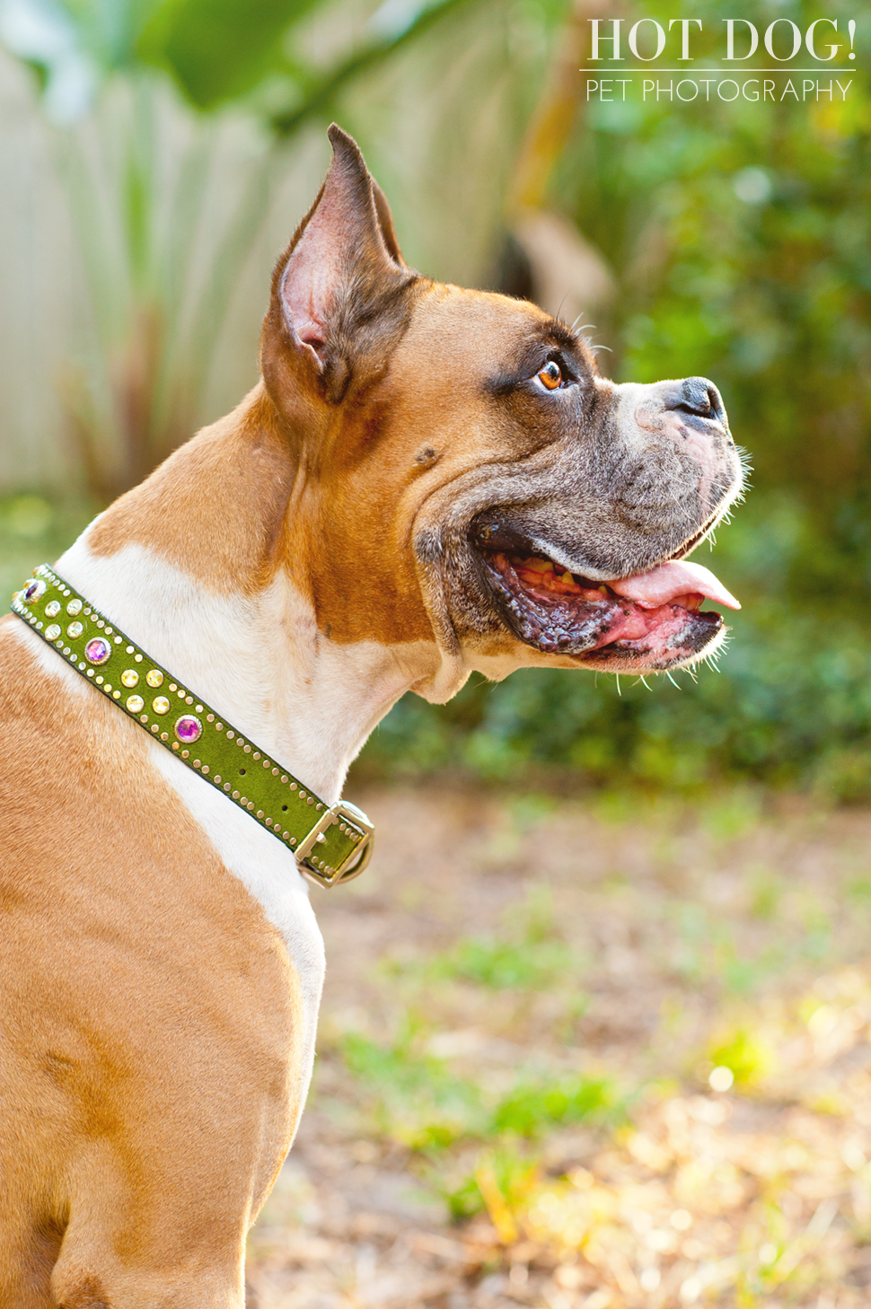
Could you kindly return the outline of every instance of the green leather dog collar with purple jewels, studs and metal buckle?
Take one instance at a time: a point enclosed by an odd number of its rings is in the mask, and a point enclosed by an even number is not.
[[[296,855],[322,886],[358,877],[375,829],[356,805],[327,805],[173,678],[47,564],[12,611],[176,758]]]

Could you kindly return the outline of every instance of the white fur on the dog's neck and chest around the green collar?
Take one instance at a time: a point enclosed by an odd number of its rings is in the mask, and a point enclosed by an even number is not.
[[[375,724],[432,662],[424,643],[398,653],[375,643],[330,643],[283,576],[255,597],[220,596],[141,546],[94,555],[88,533],[58,562],[58,572],[327,802],[338,800],[348,763]],[[69,675],[60,661],[58,674]],[[325,967],[308,884],[269,831],[156,742],[149,753],[287,944],[304,1005],[303,1103]]]

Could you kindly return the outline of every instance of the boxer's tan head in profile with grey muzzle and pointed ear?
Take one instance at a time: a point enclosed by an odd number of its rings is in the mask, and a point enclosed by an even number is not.
[[[534,305],[420,276],[358,147],[330,140],[261,351],[306,524],[287,567],[318,628],[435,640],[496,678],[711,653],[723,619],[699,605],[736,602],[682,560],[741,490],[716,387],[616,385]]]

